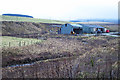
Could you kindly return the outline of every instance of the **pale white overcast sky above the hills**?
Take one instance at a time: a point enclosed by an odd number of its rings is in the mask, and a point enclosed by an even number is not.
[[[1,0],[0,15],[54,20],[117,19],[119,0]]]

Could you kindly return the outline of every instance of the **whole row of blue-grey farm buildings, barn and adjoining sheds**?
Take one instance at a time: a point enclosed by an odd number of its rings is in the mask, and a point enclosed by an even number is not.
[[[106,28],[99,25],[86,25],[86,24],[64,24],[61,26],[58,31],[59,34],[82,34],[82,33],[96,33],[100,30],[100,32],[106,32]]]

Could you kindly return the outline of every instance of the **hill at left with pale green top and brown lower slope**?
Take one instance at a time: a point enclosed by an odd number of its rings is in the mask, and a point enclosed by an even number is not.
[[[37,19],[16,16],[1,16],[2,35],[16,35],[16,34],[34,34],[34,33],[48,33],[51,25],[61,25],[69,22]]]

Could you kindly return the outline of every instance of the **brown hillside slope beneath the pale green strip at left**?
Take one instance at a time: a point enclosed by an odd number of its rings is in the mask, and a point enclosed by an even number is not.
[[[49,30],[51,29],[52,25],[54,24],[2,21],[2,35],[17,35],[17,34],[19,35],[19,34],[34,34],[34,33],[39,33],[43,35],[49,33]]]

